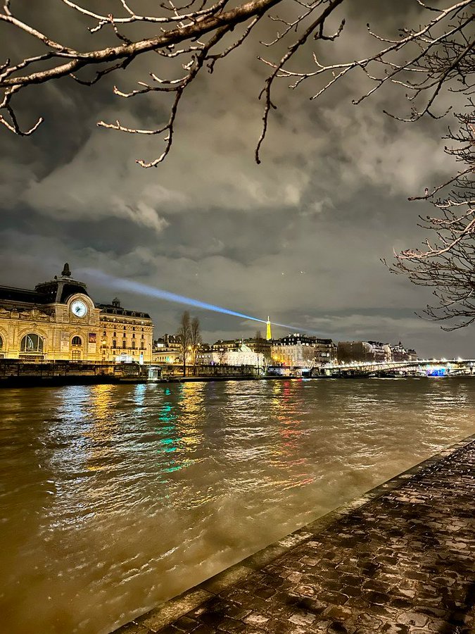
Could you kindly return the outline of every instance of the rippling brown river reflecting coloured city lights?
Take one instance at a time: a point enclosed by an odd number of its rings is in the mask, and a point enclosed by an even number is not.
[[[0,390],[1,626],[108,633],[474,421],[471,378]]]

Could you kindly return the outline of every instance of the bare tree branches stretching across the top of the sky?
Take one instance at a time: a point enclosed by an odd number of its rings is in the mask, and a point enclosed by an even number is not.
[[[276,25],[277,31],[270,42],[261,42],[262,46],[266,50],[276,51],[281,51],[284,47],[284,54],[279,53],[274,61],[259,56],[265,66],[272,68],[272,72],[265,79],[260,93],[263,116],[262,132],[255,151],[255,160],[258,163],[262,142],[267,134],[270,111],[277,107],[272,99],[272,87],[277,80],[292,78],[294,82],[291,87],[296,89],[304,81],[322,78],[323,86],[312,97],[317,99],[348,73],[362,71],[374,85],[357,97],[354,103],[360,103],[387,83],[392,83],[407,91],[411,113],[410,116],[391,113],[391,116],[411,121],[422,116],[443,116],[445,111],[437,113],[433,109],[443,89],[465,94],[470,94],[475,89],[471,81],[474,68],[473,0],[452,2],[445,8],[435,8],[423,0],[414,0],[414,4],[427,13],[428,19],[422,26],[414,30],[403,29],[400,37],[384,37],[368,26],[369,37],[381,43],[375,54],[343,63],[324,63],[315,51],[309,51],[308,59],[313,60],[315,68],[304,72],[293,70],[289,67],[289,62],[296,51],[309,46],[310,42],[331,42],[341,36],[345,20],[341,20],[340,27],[334,33],[325,32],[325,26],[330,16],[337,9],[344,8],[348,0],[249,0],[243,4],[239,4],[238,0],[238,4],[232,8],[228,8],[229,0],[189,0],[182,6],[177,6],[173,0],[167,0],[157,6],[153,15],[137,13],[128,0],[111,0],[112,6],[115,2],[115,13],[107,15],[85,8],[80,1],[55,1],[58,6],[65,6],[84,20],[84,26],[92,35],[110,27],[119,44],[94,48],[94,45],[90,46],[88,39],[84,40],[84,50],[76,50],[68,42],[58,42],[28,20],[15,16],[12,8],[14,3],[5,0],[3,10],[0,10],[0,22],[4,23],[5,29],[28,35],[32,42],[44,47],[44,52],[35,56],[25,54],[17,63],[7,61],[0,66],[0,123],[17,135],[32,134],[42,123],[43,118],[39,117],[25,131],[18,124],[11,99],[25,87],[68,76],[81,85],[91,86],[106,75],[127,70],[134,59],[151,51],[163,58],[178,58],[182,60],[184,75],[159,78],[152,70],[151,82],[139,78],[137,89],[124,92],[118,87],[114,88],[118,97],[137,97],[151,92],[173,93],[167,123],[151,130],[130,128],[119,121],[98,123],[102,128],[121,132],[164,135],[165,149],[158,159],[137,161],[144,167],[157,166],[170,151],[179,102],[203,66],[207,66],[212,72],[217,61],[223,60],[244,45],[264,15]],[[283,13],[270,15],[272,8],[277,5]],[[291,15],[295,15],[296,6],[297,17],[286,18],[286,12],[290,11]],[[53,10],[52,7],[51,11]],[[24,13],[27,14],[28,11]],[[152,37],[137,38],[137,29],[132,28],[140,24],[156,25],[158,32]],[[239,25],[243,26],[234,42],[226,42],[222,48],[224,38],[229,37]],[[94,70],[94,75],[89,78],[78,75],[80,71],[87,69]]]

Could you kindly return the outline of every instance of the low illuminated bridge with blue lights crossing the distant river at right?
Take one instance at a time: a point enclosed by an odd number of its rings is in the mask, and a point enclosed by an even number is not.
[[[359,361],[314,368],[320,376],[453,376],[475,374],[475,359],[417,359],[417,361]]]

